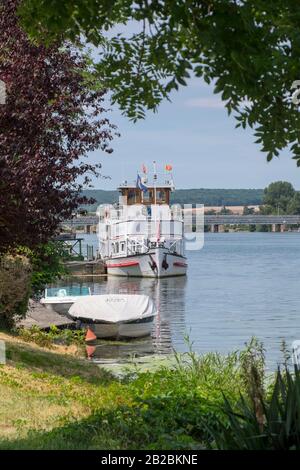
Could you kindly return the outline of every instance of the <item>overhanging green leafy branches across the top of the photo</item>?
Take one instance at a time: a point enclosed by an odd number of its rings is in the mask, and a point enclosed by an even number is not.
[[[300,79],[298,2],[23,0],[20,15],[34,38],[84,35],[99,47],[99,77],[131,119],[194,74],[214,84],[237,126],[254,129],[268,160],[290,146],[300,166],[300,113],[290,100]],[[105,34],[120,23],[137,32]]]

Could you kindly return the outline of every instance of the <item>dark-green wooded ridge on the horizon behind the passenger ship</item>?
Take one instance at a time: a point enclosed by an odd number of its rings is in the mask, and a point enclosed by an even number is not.
[[[118,201],[118,191],[90,189],[84,196],[96,199],[97,203],[84,206],[90,212],[96,211],[99,204]],[[206,206],[248,206],[262,203],[263,189],[177,189],[172,193],[171,203],[205,204]]]

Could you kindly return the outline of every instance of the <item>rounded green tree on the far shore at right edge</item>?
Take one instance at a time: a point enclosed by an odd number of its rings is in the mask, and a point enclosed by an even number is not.
[[[288,205],[295,196],[295,190],[287,181],[276,181],[264,190],[265,213],[287,213]]]

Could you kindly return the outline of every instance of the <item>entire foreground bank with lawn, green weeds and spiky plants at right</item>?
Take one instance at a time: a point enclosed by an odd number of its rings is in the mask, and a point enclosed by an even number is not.
[[[74,345],[0,339],[0,450],[300,450],[300,372],[266,379],[255,341],[226,357],[175,355],[152,372],[131,366],[119,380]]]

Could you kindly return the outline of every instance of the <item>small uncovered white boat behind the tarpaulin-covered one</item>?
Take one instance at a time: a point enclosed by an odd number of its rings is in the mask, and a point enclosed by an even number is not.
[[[49,310],[66,315],[76,300],[89,296],[91,296],[89,287],[50,287],[45,289],[44,297],[40,302]]]

